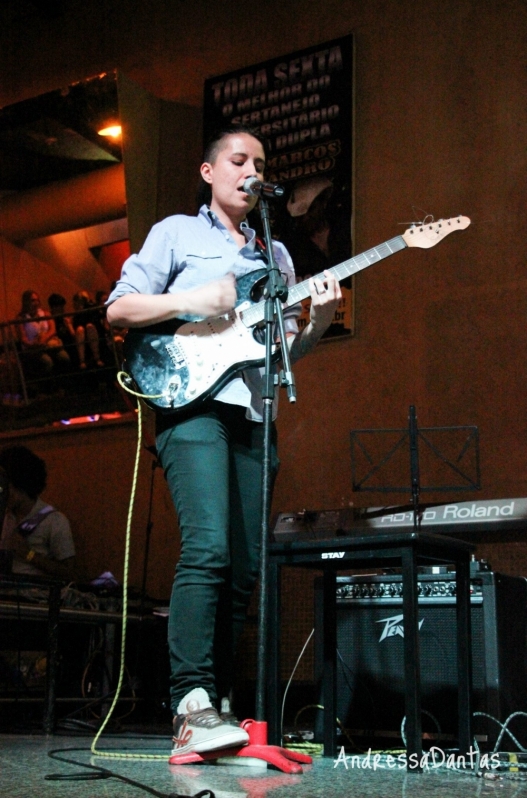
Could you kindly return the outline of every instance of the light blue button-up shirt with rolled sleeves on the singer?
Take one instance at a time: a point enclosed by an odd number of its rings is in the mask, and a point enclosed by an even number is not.
[[[121,279],[110,294],[108,304],[125,294],[165,294],[188,291],[218,280],[229,272],[236,278],[265,267],[256,246],[256,233],[242,224],[247,243],[238,248],[227,228],[203,205],[197,216],[169,216],[155,224],[141,251],[123,264]],[[288,286],[296,282],[293,263],[286,248],[273,242],[276,264]],[[297,333],[300,305],[284,311],[286,332]],[[262,420],[262,369],[246,369],[233,377],[216,399],[247,407],[247,416]],[[277,401],[275,399],[274,415]]]

